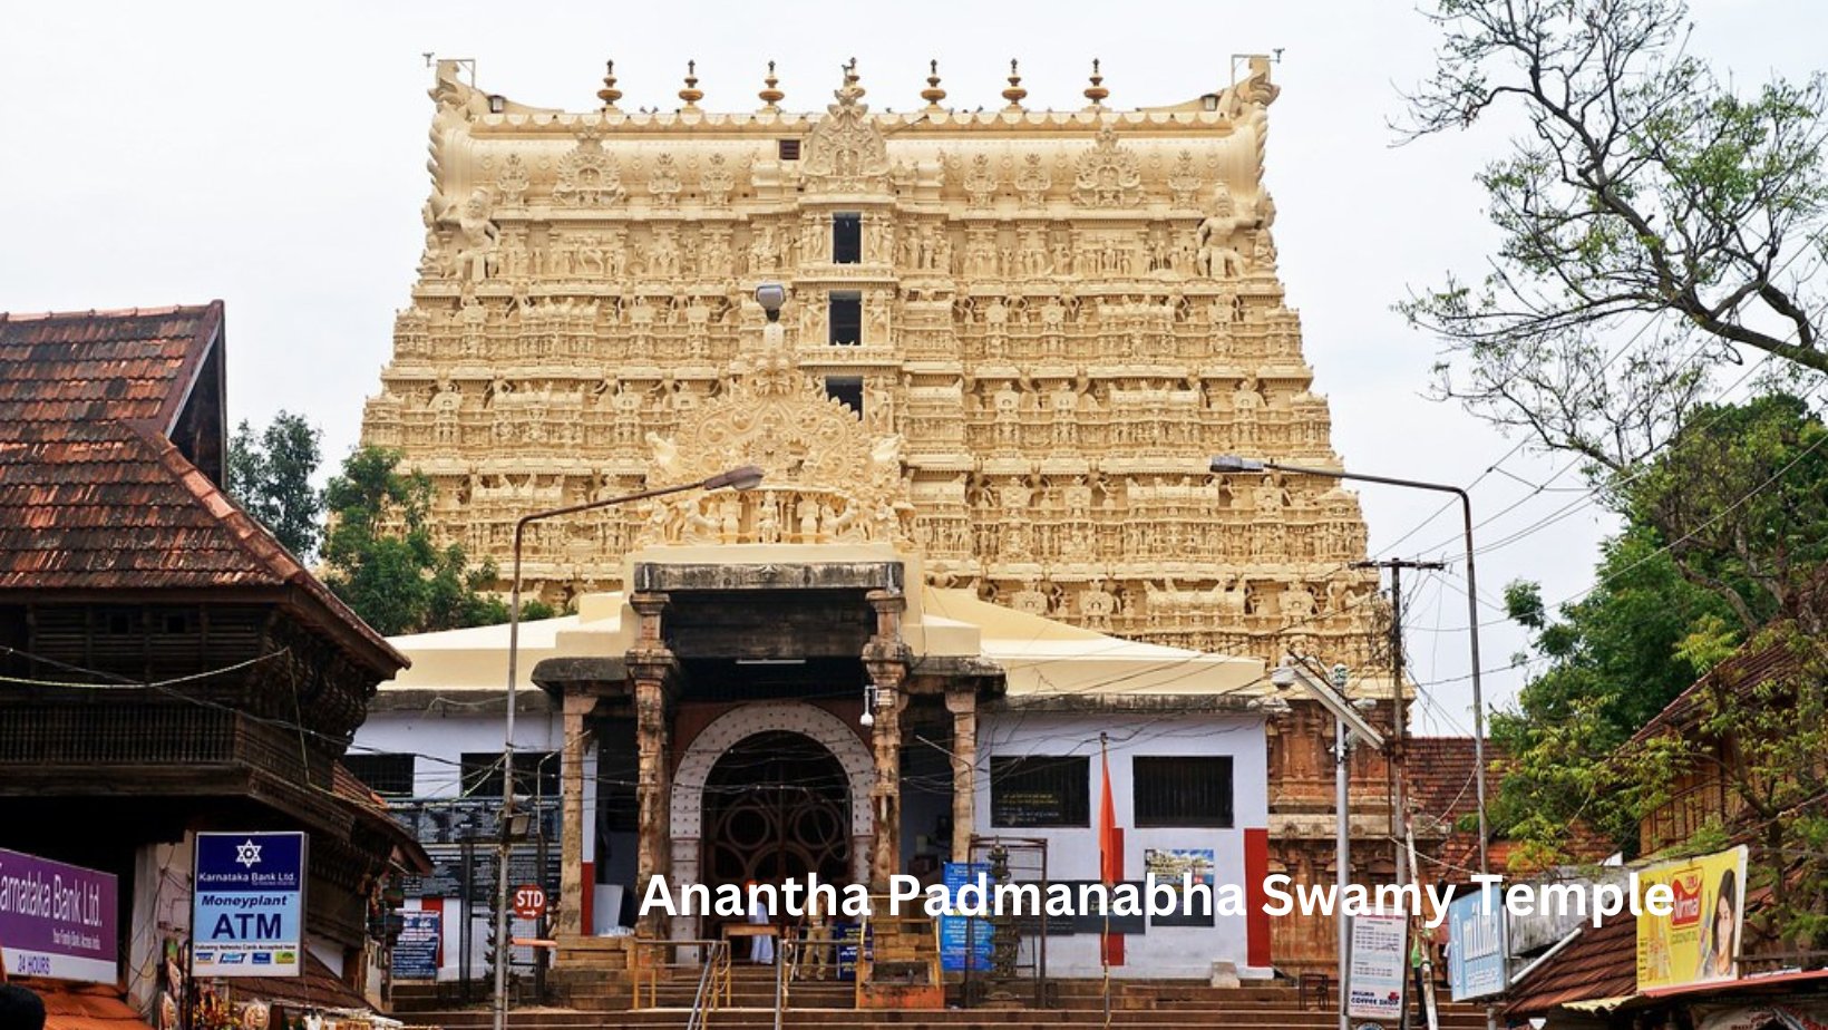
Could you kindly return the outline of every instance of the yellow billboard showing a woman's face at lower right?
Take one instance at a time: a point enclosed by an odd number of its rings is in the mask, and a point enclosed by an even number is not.
[[[1645,891],[1667,884],[1674,911],[1656,915]],[[1746,849],[1665,862],[1638,873],[1638,990],[1738,977],[1746,922]]]

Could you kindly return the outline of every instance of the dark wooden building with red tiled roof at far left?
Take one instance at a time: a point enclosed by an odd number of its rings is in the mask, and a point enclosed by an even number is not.
[[[112,873],[148,1012],[190,838],[309,834],[313,968],[373,993],[422,853],[338,759],[406,659],[221,490],[223,306],[0,315],[0,847]]]

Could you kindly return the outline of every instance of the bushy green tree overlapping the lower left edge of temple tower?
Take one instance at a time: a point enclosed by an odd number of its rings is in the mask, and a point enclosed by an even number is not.
[[[481,593],[495,567],[470,569],[461,547],[433,543],[431,481],[399,465],[399,452],[364,446],[329,481],[324,582],[388,637],[506,622],[506,606]]]

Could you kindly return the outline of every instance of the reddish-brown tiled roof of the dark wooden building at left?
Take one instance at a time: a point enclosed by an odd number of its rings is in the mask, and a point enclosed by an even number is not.
[[[0,591],[294,587],[406,664],[166,437],[223,307],[0,315]]]

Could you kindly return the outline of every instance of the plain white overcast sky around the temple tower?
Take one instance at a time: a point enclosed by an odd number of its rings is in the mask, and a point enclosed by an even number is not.
[[[1748,82],[1806,73],[1828,24],[1810,0],[1700,0],[1695,20],[1695,49]],[[1490,234],[1472,174],[1503,135],[1389,146],[1397,91],[1428,71],[1435,42],[1409,4],[60,2],[13,5],[4,24],[0,311],[221,298],[230,415],[303,412],[329,465],[355,445],[419,260],[426,51],[477,59],[488,91],[569,110],[596,106],[603,59],[627,110],[678,106],[687,59],[706,108],[759,106],[771,59],[784,106],[821,110],[856,57],[872,106],[910,110],[932,57],[960,108],[1000,106],[1011,57],[1031,108],[1082,106],[1093,57],[1111,106],[1155,106],[1228,82],[1234,53],[1281,48],[1267,157],[1276,241],[1347,468],[1477,479],[1473,516],[1492,520],[1481,545],[1576,505],[1477,558],[1486,670],[1523,646],[1495,607],[1503,585],[1536,578],[1552,602],[1576,595],[1612,529],[1581,505],[1565,459],[1512,454],[1515,441],[1420,397],[1435,344],[1391,304],[1442,269],[1481,267]],[[1426,699],[1419,730],[1466,732],[1457,512],[1422,525],[1444,494],[1360,496],[1375,556],[1451,562],[1448,576],[1404,580],[1419,584],[1408,651]],[[1521,671],[1488,671],[1486,699],[1503,704],[1521,684]]]

